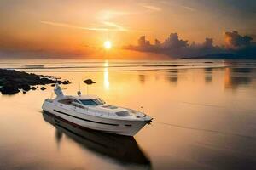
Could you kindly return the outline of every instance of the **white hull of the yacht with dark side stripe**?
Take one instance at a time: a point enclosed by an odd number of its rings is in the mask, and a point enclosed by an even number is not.
[[[76,111],[79,110],[79,108],[76,109],[68,108],[65,105],[54,105],[47,100],[44,101],[42,108],[53,116],[57,116],[78,127],[90,128],[104,133],[134,136],[147,124],[147,121],[143,120],[120,120],[79,113],[79,111]]]

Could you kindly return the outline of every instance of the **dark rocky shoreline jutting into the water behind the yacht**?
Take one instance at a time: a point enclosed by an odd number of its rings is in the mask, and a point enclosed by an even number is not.
[[[20,90],[26,93],[29,90],[36,90],[38,85],[53,84],[55,82],[55,77],[52,76],[0,69],[0,92],[2,94],[17,94]],[[58,80],[57,82],[60,84],[70,83],[68,80]],[[44,87],[42,87],[41,90],[43,90],[43,88]]]

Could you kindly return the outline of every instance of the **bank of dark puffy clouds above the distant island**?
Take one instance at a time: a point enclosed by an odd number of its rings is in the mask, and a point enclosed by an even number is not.
[[[237,31],[225,32],[225,45],[216,46],[213,39],[207,37],[205,42],[189,44],[187,40],[178,37],[177,33],[170,34],[164,42],[155,40],[151,44],[145,36],[140,37],[137,46],[125,46],[125,49],[166,54],[173,58],[200,57],[207,55],[232,55],[233,57],[244,57],[256,59],[256,44],[253,37],[241,36]]]

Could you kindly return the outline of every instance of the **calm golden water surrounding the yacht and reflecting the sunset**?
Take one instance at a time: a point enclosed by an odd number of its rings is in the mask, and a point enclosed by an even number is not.
[[[0,169],[256,169],[256,62],[1,60],[1,68],[82,80],[89,93],[154,117],[134,138],[44,115],[47,90],[0,94]]]

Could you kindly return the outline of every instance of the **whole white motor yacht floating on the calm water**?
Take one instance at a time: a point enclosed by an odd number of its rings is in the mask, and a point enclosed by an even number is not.
[[[106,104],[95,95],[64,95],[55,84],[55,99],[45,99],[43,111],[81,128],[134,136],[152,119],[143,112]]]

